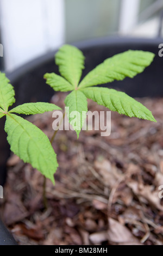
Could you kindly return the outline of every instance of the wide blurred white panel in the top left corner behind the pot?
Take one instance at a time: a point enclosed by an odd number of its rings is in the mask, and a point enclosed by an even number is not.
[[[0,0],[5,67],[13,70],[64,42],[64,0]]]

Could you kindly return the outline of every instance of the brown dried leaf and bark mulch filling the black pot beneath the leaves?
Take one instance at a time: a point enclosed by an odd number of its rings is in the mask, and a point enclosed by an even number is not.
[[[65,94],[53,103],[64,107]],[[19,245],[163,245],[163,99],[139,99],[157,123],[111,113],[111,135],[59,131],[55,187],[17,156],[8,160],[0,214]],[[89,110],[106,108],[89,101]],[[29,117],[53,135],[52,113]],[[162,193],[163,196],[163,193]]]

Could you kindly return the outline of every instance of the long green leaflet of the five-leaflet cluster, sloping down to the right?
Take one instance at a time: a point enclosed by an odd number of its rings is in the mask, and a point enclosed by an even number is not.
[[[86,88],[82,89],[82,92],[87,98],[109,108],[111,111],[117,111],[120,114],[128,115],[128,117],[137,117],[156,122],[151,111],[126,93],[103,87]]]

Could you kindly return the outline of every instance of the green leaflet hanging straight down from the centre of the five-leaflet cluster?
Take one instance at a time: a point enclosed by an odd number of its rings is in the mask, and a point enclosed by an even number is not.
[[[66,113],[69,123],[76,131],[79,138],[79,133],[84,125],[87,113],[87,99],[85,95],[79,90],[74,90],[68,94],[65,99]]]

